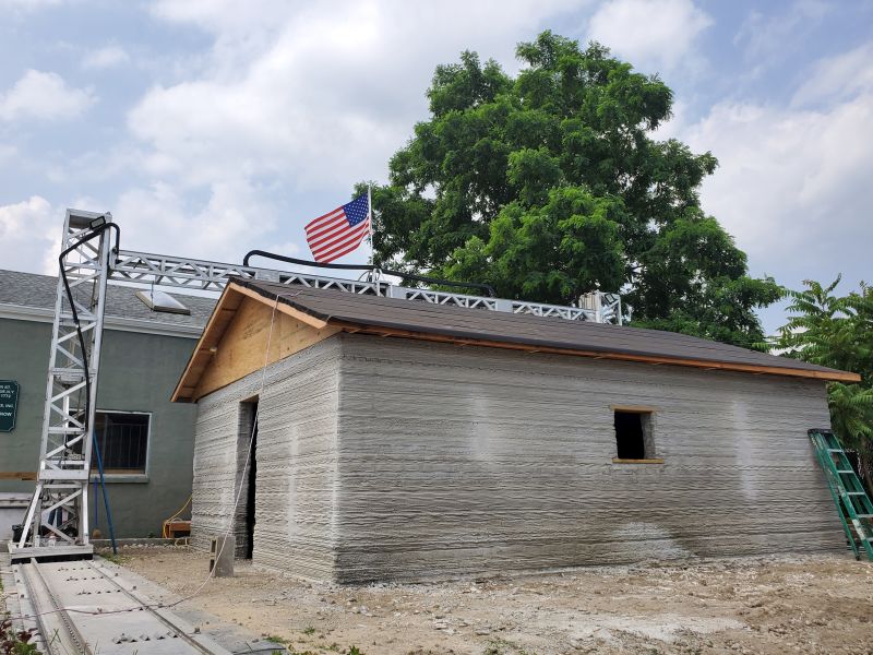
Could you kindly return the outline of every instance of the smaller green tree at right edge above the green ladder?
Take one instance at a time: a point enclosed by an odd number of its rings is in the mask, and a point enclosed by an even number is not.
[[[777,347],[789,357],[861,376],[858,384],[828,384],[830,422],[842,443],[858,452],[868,489],[873,489],[873,288],[837,296],[840,278],[830,285],[804,281],[789,291],[788,323]]]

